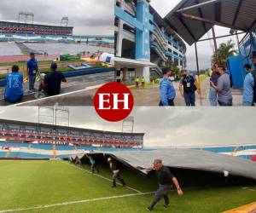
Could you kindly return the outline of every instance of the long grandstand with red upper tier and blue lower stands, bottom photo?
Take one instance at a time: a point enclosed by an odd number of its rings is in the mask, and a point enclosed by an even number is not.
[[[0,119],[0,157],[38,158],[39,155],[42,158],[64,158],[86,150],[135,150],[143,147],[143,136],[143,133],[86,130]],[[49,152],[38,152],[38,149]],[[66,152],[56,153],[60,150]]]

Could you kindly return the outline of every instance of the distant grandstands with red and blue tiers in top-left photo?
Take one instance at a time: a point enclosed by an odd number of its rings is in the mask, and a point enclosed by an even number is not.
[[[0,21],[0,42],[55,42],[113,45],[113,37],[103,35],[73,35],[73,28],[73,26],[50,26]]]

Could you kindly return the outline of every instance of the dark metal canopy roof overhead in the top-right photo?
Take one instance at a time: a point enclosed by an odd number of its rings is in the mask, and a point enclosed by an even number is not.
[[[182,0],[165,20],[186,43],[192,45],[211,29],[212,24],[256,32],[255,14],[256,1],[252,0]],[[194,20],[191,15],[196,16]]]

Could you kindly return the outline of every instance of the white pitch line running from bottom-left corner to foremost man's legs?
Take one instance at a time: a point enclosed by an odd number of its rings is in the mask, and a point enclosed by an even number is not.
[[[13,209],[13,210],[0,210],[0,213],[22,211],[22,210],[46,209],[46,208],[51,208],[51,207],[55,207],[55,206],[67,205],[67,204],[89,203],[89,202],[98,201],[98,200],[127,198],[127,197],[141,196],[141,195],[147,195],[147,194],[152,194],[152,193],[154,193],[154,192],[149,192],[149,193],[130,193],[130,194],[117,195],[117,196],[111,196],[111,197],[104,197],[104,198],[98,198],[98,199],[82,199],[82,200],[69,201],[69,202],[64,202],[64,203],[59,203],[59,204],[45,204],[45,205],[28,207],[28,208],[17,208],[17,209]]]

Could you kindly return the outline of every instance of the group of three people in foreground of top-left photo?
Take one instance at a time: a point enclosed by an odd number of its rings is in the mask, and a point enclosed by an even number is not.
[[[40,79],[38,92],[44,90],[45,95],[58,95],[61,90],[61,82],[67,82],[66,78],[61,72],[57,72],[57,64],[52,62],[50,71],[43,76],[38,69],[38,60],[34,53],[30,54],[30,60],[26,63],[26,74],[29,82],[28,93],[35,92],[35,82],[37,76]],[[24,95],[23,91],[23,74],[19,66],[12,66],[12,72],[5,76],[6,88],[4,92],[4,100],[9,102],[18,102]]]

